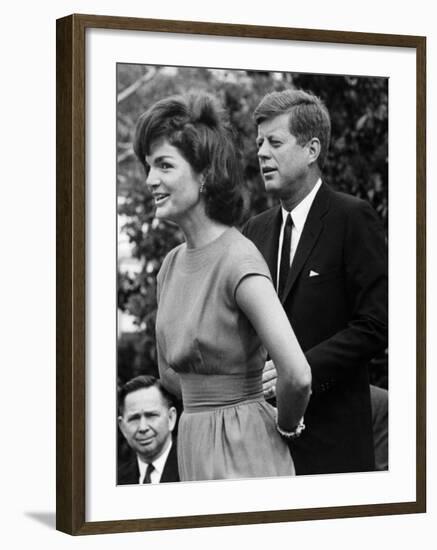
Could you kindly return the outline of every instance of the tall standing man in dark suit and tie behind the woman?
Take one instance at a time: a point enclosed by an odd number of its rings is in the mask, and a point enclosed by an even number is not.
[[[375,468],[367,364],[387,346],[387,255],[376,212],[321,179],[330,118],[315,96],[274,92],[255,110],[260,169],[280,206],[243,233],[259,248],[312,371],[297,474]],[[266,363],[264,389],[276,371]],[[268,395],[270,392],[270,395]]]

